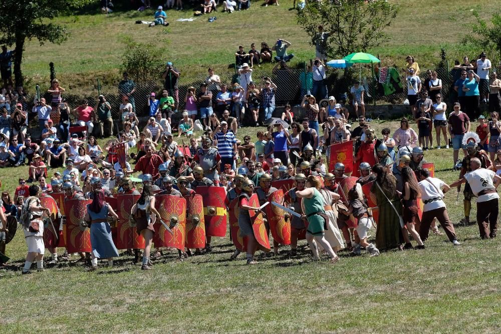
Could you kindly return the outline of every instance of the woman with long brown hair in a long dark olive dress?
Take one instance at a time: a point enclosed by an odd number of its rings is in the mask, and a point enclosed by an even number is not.
[[[376,180],[371,188],[371,193],[376,195],[376,203],[379,208],[376,247],[378,249],[401,247],[403,238],[399,215],[402,214],[402,204],[398,198],[395,177],[388,173],[385,166],[381,164],[372,166],[372,172],[376,174]],[[393,206],[388,200],[391,200]]]

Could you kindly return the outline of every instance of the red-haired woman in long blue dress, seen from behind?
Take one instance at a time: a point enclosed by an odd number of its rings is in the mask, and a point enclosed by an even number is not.
[[[113,265],[113,257],[119,256],[117,247],[111,238],[111,227],[108,223],[108,215],[118,219],[118,215],[110,205],[104,200],[102,189],[94,190],[94,199],[91,204],[87,204],[87,214],[85,221],[91,226],[91,262],[90,270],[97,269],[98,258],[108,258],[108,265]]]

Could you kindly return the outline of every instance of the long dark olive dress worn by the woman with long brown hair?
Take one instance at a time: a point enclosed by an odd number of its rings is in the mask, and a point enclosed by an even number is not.
[[[390,249],[398,247],[402,242],[402,229],[395,210],[391,207],[385,195],[374,183],[371,192],[376,194],[376,203],[379,208],[379,222],[376,230],[376,247],[378,249]],[[395,196],[392,203],[399,214],[402,214],[402,204]]]

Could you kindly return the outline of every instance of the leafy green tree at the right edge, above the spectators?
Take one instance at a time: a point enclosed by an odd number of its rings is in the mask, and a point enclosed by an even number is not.
[[[468,35],[463,42],[471,42],[487,53],[493,68],[501,61],[501,12],[496,12],[490,19],[490,24],[480,18],[478,12],[473,11],[476,24],[471,28],[473,35]],[[472,60],[473,61],[473,60]]]

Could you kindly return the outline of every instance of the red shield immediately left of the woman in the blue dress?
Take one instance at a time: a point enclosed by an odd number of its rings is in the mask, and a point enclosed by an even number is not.
[[[87,213],[87,204],[91,200],[69,199],[66,200],[66,249],[68,253],[91,252],[91,232],[88,227],[83,228],[81,222]]]

